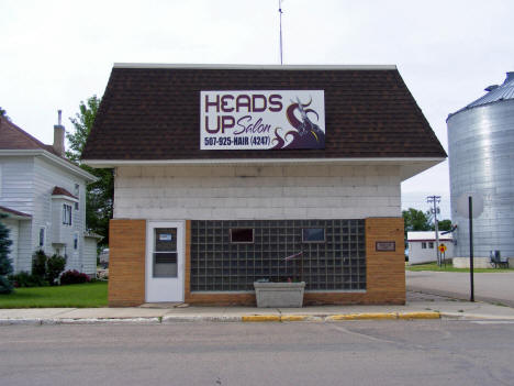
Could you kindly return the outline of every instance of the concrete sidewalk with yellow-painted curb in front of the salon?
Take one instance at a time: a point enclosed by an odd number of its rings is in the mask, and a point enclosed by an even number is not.
[[[154,308],[155,307],[155,308]],[[315,321],[356,319],[514,320],[514,308],[407,293],[405,306],[315,306],[303,308],[176,307],[0,309],[0,324]]]

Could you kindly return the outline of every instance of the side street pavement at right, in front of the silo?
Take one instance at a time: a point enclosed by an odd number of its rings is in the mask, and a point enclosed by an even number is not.
[[[405,272],[407,290],[469,300],[471,280],[461,272]],[[514,273],[473,274],[474,299],[514,307]],[[514,384],[514,383],[513,383]]]

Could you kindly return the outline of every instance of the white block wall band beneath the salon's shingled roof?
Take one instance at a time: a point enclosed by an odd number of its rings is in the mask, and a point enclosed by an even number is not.
[[[114,218],[362,219],[400,217],[398,166],[123,166]]]

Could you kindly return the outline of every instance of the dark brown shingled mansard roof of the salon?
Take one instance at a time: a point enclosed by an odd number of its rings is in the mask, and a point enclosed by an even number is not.
[[[324,90],[324,150],[200,150],[202,90]],[[88,161],[444,158],[394,66],[115,65]]]

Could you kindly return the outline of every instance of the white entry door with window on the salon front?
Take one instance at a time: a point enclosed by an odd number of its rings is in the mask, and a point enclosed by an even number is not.
[[[148,221],[146,232],[146,301],[183,301],[185,224]]]

